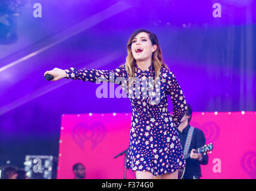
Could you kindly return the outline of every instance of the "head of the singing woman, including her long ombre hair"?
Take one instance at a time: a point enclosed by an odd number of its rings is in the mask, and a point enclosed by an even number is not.
[[[148,30],[138,29],[132,33],[127,43],[127,54],[126,70],[129,77],[135,77],[136,61],[150,60],[153,63],[156,77],[159,76],[161,66],[167,68],[157,36]]]

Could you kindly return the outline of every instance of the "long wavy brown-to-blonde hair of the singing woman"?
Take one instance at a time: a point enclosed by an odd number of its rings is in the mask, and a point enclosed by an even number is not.
[[[136,35],[138,35],[138,33],[141,32],[145,32],[148,33],[149,37],[150,37],[150,41],[153,45],[157,45],[157,50],[153,52],[152,54],[152,62],[153,62],[153,66],[154,66],[154,70],[155,70],[155,76],[154,77],[159,77],[159,73],[160,73],[160,69],[161,66],[165,67],[166,69],[169,70],[169,68],[166,66],[166,64],[163,61],[163,57],[162,57],[162,52],[161,52],[161,48],[159,45],[159,41],[157,39],[157,36],[146,30],[146,29],[138,29],[135,30],[135,32],[132,33],[132,35],[129,38],[129,41],[127,43],[127,57],[126,57],[126,71],[129,75],[129,77],[132,77],[132,81],[129,82],[129,84],[133,84],[133,81],[135,81],[135,66],[136,66],[136,60],[135,58],[133,58],[132,56],[132,40],[133,38],[135,38]],[[154,80],[154,84],[156,83],[156,78]]]

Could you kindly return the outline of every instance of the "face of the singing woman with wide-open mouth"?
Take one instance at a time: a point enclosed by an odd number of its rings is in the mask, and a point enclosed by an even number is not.
[[[152,57],[152,54],[157,49],[157,45],[153,45],[149,35],[146,32],[138,33],[132,39],[132,56],[136,61],[145,61]]]

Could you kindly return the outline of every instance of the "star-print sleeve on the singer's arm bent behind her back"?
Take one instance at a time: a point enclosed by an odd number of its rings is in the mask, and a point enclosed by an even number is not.
[[[176,127],[179,127],[179,124],[181,124],[181,119],[187,110],[187,103],[181,87],[179,86],[178,81],[172,72],[169,72],[167,84],[169,85],[167,94],[170,94],[173,104],[172,119],[175,122]]]

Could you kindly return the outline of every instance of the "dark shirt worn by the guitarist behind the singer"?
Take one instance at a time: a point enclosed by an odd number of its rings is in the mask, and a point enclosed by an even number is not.
[[[184,128],[182,133],[178,131],[183,149],[185,146],[185,141],[187,139],[189,128],[190,128],[190,125],[188,124],[187,127]],[[198,149],[199,147],[202,147],[204,145],[205,145],[205,134],[203,134],[203,131],[199,130],[199,128],[194,128],[194,133],[192,136],[192,140],[191,140],[191,144],[190,144],[190,148],[188,149],[188,152],[191,152],[192,149]],[[203,159],[201,162],[199,162],[197,159],[191,159],[191,158],[186,159],[184,177],[193,177],[193,175],[202,177],[200,165],[208,164],[208,155],[202,154],[202,156],[203,156]]]

